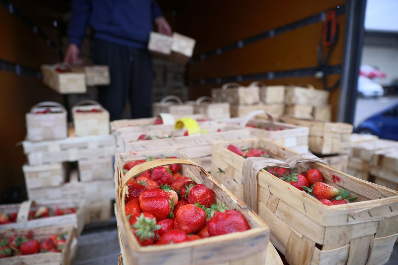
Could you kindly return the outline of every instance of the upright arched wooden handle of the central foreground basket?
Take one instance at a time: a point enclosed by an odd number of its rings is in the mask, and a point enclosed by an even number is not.
[[[151,169],[162,167],[162,166],[170,166],[170,165],[176,165],[176,164],[195,166],[195,167],[199,168],[199,170],[202,173],[204,173],[207,177],[213,178],[204,168],[202,168],[198,164],[191,162],[189,160],[183,160],[183,159],[179,159],[179,158],[169,158],[169,159],[156,159],[156,160],[152,160],[152,161],[146,161],[144,163],[138,164],[137,166],[131,168],[131,170],[127,171],[126,175],[121,177],[121,181],[119,181],[119,183],[121,183],[121,185],[119,186],[119,195],[120,195],[119,199],[124,198],[125,193],[121,192],[121,191],[124,189],[124,187],[129,182],[129,180],[132,179],[133,177],[135,177],[136,175],[139,175],[140,173],[142,173],[146,170],[151,170]]]

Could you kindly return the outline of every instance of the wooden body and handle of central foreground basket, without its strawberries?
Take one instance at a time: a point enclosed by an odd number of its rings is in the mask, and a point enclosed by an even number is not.
[[[163,151],[158,151],[157,153],[162,154]],[[179,157],[187,159],[183,155]],[[129,179],[145,170],[171,164],[180,164],[183,176],[191,177],[197,183],[203,183],[214,191],[217,204],[222,202],[228,208],[242,212],[248,220],[251,229],[179,244],[140,246],[133,235],[129,220],[126,218],[125,185]],[[119,242],[125,263],[135,265],[179,264],[183,261],[186,264],[264,264],[269,239],[267,224],[199,165],[189,160],[159,159],[139,164],[127,172],[126,175],[119,171],[118,178],[116,218]]]

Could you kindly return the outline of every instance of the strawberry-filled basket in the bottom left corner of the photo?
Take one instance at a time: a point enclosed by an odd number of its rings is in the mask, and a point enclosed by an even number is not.
[[[74,233],[72,226],[0,231],[0,264],[72,264]]]

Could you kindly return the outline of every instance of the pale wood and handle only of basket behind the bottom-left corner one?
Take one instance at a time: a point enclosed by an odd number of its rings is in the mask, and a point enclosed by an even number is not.
[[[61,209],[75,208],[76,213],[28,220],[29,210],[37,210],[41,206],[51,208],[52,210],[55,210],[57,207]],[[24,201],[23,203],[0,205],[0,213],[8,214],[17,212],[17,222],[0,225],[0,230],[9,228],[35,229],[46,226],[71,225],[76,229],[76,236],[79,236],[83,231],[85,209],[86,203],[81,199]]]

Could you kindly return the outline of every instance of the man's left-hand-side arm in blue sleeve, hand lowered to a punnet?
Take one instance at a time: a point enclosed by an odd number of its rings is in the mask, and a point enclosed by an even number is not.
[[[82,45],[84,34],[91,13],[91,0],[74,0],[69,23],[69,45],[66,50],[64,62],[70,64],[82,64],[78,58],[79,47]]]

